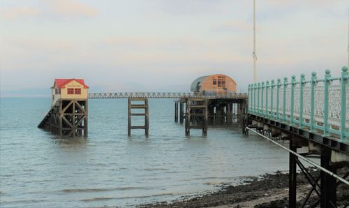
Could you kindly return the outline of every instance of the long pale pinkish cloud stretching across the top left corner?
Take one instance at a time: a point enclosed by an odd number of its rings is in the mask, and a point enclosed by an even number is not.
[[[27,17],[59,19],[72,17],[94,17],[99,11],[96,8],[80,3],[77,0],[41,0],[37,8],[13,7],[0,8],[0,17],[5,20],[20,20]]]

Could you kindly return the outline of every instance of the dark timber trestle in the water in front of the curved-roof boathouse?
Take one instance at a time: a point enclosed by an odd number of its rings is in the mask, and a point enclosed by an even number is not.
[[[202,128],[202,135],[207,136],[207,99],[188,98],[186,101],[186,136],[191,135],[191,128]]]

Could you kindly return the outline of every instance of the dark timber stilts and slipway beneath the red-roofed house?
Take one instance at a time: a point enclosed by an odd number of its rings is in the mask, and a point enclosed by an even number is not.
[[[87,137],[87,99],[61,99],[47,113],[38,128],[64,137]]]

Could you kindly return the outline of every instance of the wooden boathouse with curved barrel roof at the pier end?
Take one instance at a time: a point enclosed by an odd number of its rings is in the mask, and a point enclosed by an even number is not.
[[[208,75],[198,77],[191,83],[191,91],[195,93],[226,94],[237,91],[237,84],[227,75]]]

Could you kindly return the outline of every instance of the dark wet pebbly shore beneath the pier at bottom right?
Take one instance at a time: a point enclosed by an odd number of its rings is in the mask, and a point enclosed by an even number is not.
[[[315,177],[319,172],[309,168]],[[339,175],[346,174],[349,168],[339,170]],[[304,174],[297,174],[297,207],[302,205],[311,185]],[[318,200],[315,192],[310,198],[312,204]],[[308,204],[309,205],[309,204]],[[349,207],[349,186],[337,187],[337,206]],[[223,185],[218,191],[186,200],[157,202],[140,207],[288,207],[288,173],[276,172],[260,177],[248,177],[244,184],[237,186]]]

